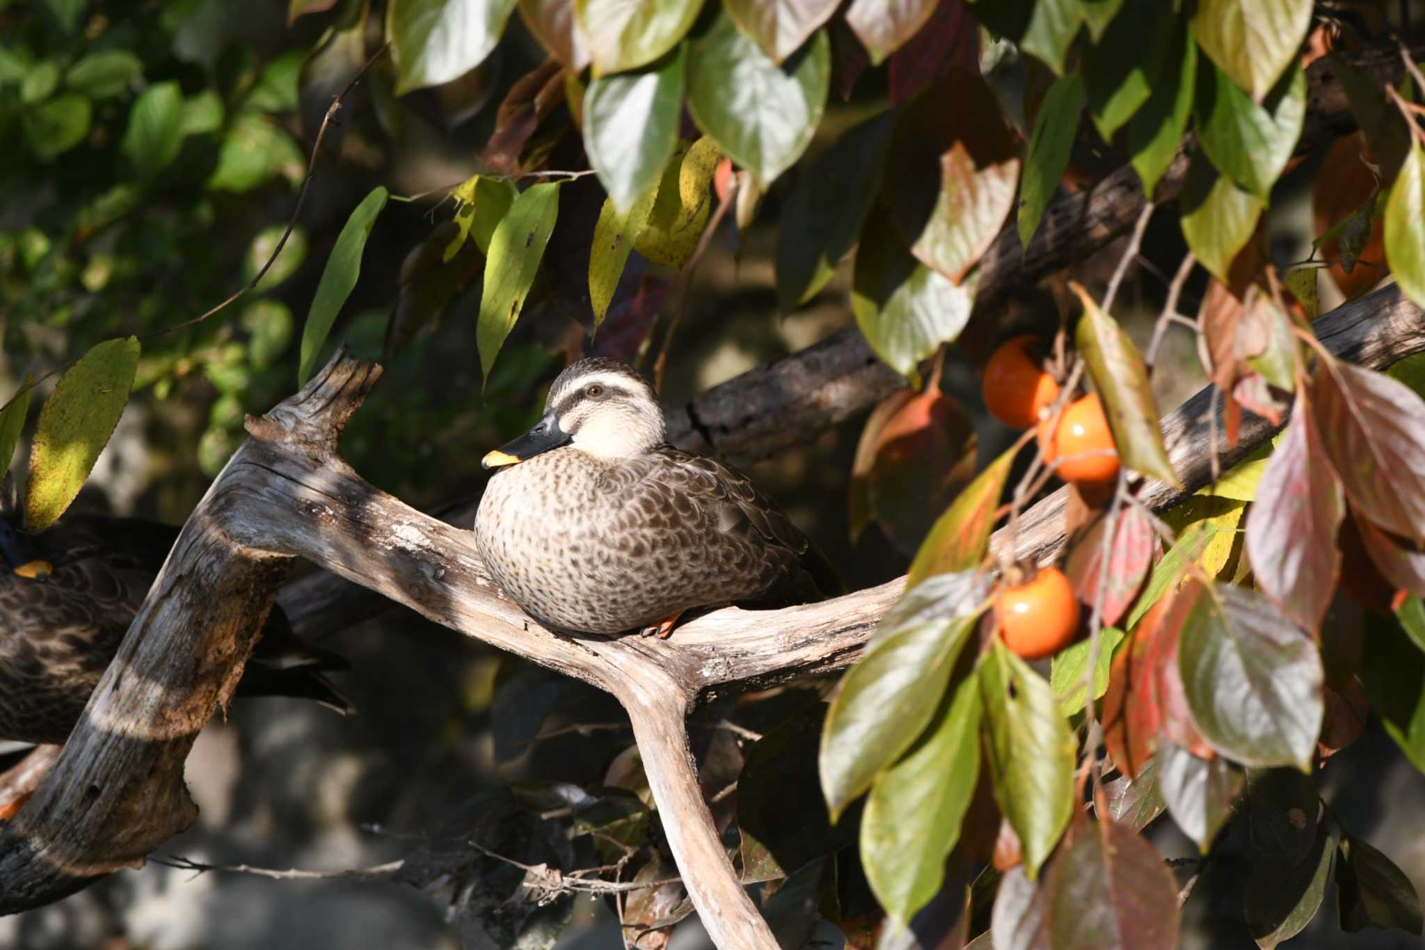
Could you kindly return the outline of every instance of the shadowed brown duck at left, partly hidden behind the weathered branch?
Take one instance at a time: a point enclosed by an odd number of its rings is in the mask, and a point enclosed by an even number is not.
[[[0,739],[63,745],[148,595],[178,528],[142,518],[70,514],[23,528],[14,483],[0,483]],[[276,605],[238,695],[352,704],[323,674],[345,658],[302,641]]]

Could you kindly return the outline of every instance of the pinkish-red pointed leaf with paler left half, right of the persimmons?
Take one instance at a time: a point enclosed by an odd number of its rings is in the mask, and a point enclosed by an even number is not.
[[[1247,557],[1261,590],[1315,635],[1341,574],[1335,546],[1345,497],[1327,459],[1307,395],[1267,460],[1247,514]]]

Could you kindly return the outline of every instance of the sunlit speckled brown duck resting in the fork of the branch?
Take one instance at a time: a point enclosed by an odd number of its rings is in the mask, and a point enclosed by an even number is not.
[[[494,473],[476,547],[526,614],[566,634],[667,638],[688,611],[841,593],[821,551],[745,474],[665,433],[647,379],[586,357],[554,379],[529,432],[484,456]]]

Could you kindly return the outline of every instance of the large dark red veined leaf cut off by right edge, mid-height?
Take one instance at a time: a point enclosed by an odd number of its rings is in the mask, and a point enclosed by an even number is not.
[[[1425,400],[1405,383],[1322,360],[1317,424],[1347,497],[1381,528],[1425,541]]]

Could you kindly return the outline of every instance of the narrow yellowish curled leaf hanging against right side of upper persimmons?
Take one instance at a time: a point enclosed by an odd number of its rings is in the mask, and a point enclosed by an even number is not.
[[[1143,355],[1119,322],[1077,283],[1070,285],[1083,301],[1083,316],[1074,343],[1089,366],[1089,379],[1103,400],[1113,443],[1123,464],[1168,484],[1181,486],[1167,449],[1163,447],[1161,414],[1143,365]]]

